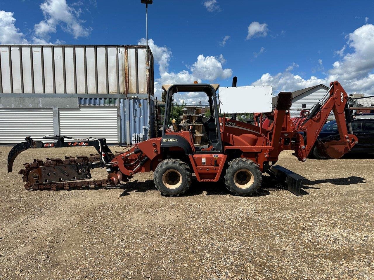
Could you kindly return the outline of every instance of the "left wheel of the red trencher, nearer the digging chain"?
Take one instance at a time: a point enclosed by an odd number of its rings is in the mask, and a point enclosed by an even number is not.
[[[177,177],[178,181],[176,184],[179,184],[181,180],[180,186],[175,188],[169,188],[164,183],[164,174],[165,176],[168,176],[170,172],[173,172],[174,177]],[[159,190],[162,195],[180,196],[187,192],[188,188],[191,186],[191,178],[191,169],[186,164],[186,162],[183,162],[180,159],[165,159],[162,162],[160,162],[159,165],[157,165],[156,170],[154,171],[153,181],[156,185],[157,190]]]

